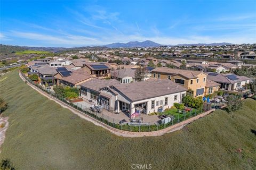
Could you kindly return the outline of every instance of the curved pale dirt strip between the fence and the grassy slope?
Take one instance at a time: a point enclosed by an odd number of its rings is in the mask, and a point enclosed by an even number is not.
[[[26,81],[26,79],[22,77],[20,72],[19,72],[19,76],[20,76],[20,78],[23,81]],[[91,117],[89,115],[86,115],[83,112],[78,111],[77,109],[67,105],[66,103],[63,103],[62,101],[52,97],[51,95],[47,94],[46,92],[42,91],[41,89],[33,86],[33,84],[30,84],[28,81],[27,81],[27,84],[28,84],[28,86],[30,86],[31,88],[33,88],[37,92],[39,92],[39,94],[49,98],[50,100],[55,101],[56,103],[58,103],[62,107],[69,109],[71,112],[73,112],[74,114],[78,115],[79,117],[85,119],[86,121],[90,121],[90,122],[92,122],[93,124],[95,124],[97,126],[101,126],[102,128],[110,131],[111,133],[114,133],[115,135],[118,135],[118,136],[121,136],[121,137],[131,137],[131,138],[134,138],[134,137],[156,137],[156,136],[160,136],[160,135],[163,135],[163,134],[166,134],[166,133],[170,133],[170,132],[173,132],[173,131],[180,130],[185,125],[187,125],[187,124],[189,124],[189,123],[191,123],[191,122],[197,120],[198,118],[201,118],[201,117],[203,117],[203,116],[205,116],[207,114],[210,114],[211,112],[213,112],[215,110],[215,109],[212,109],[211,111],[199,114],[199,115],[197,115],[195,117],[191,117],[191,118],[189,118],[186,121],[174,124],[174,125],[172,125],[172,126],[170,126],[168,128],[165,128],[165,129],[162,129],[162,130],[159,130],[159,131],[153,131],[153,132],[129,132],[129,131],[118,130],[118,129],[115,129],[115,128],[111,127],[111,126],[108,126],[107,124],[105,124],[103,122],[100,122],[100,121],[96,120],[95,118],[93,118],[93,117]]]

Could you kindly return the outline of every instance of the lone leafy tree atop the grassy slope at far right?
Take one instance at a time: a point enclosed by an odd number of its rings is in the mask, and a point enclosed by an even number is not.
[[[227,97],[227,112],[231,113],[231,117],[235,111],[238,111],[243,107],[243,101],[239,96],[236,95],[228,95]]]

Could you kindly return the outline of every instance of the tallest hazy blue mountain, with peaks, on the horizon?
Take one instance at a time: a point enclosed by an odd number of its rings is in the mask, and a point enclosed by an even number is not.
[[[162,46],[161,44],[155,43],[153,41],[143,41],[143,42],[139,42],[139,41],[130,41],[129,43],[113,43],[113,44],[108,44],[105,45],[106,47],[109,48],[133,48],[133,47],[159,47]]]

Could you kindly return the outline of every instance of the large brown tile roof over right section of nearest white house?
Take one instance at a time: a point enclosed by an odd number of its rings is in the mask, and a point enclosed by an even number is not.
[[[114,89],[117,92],[121,92],[131,101],[139,101],[143,99],[150,99],[154,97],[175,94],[177,92],[187,91],[186,88],[172,82],[169,79],[117,84],[114,85]]]

